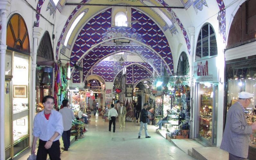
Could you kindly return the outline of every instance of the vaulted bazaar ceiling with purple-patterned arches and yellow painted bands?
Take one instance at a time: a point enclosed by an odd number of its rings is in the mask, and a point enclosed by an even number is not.
[[[38,1],[39,13],[44,1],[47,0]],[[49,3],[52,1],[49,0]],[[106,4],[106,6],[95,6],[99,3]],[[179,57],[180,54],[177,53],[175,44],[185,45],[187,55],[191,52],[190,36],[180,17],[187,20],[183,22],[189,26],[188,24],[192,22],[186,16],[192,12],[191,9],[189,10],[190,6],[193,6],[193,12],[197,14],[203,7],[208,7],[207,3],[216,5],[214,9],[221,10],[225,7],[223,0],[212,2],[206,0],[101,0],[100,2],[97,0],[59,0],[55,8],[57,32],[60,33],[57,36],[56,59],[62,56],[60,50],[63,48],[67,32],[75,19],[84,12],[64,47],[67,48],[64,53],[67,57],[82,63],[83,75],[80,75],[75,68],[72,70],[73,83],[82,83],[89,75],[98,75],[105,82],[113,82],[122,68],[132,70],[133,74],[143,74],[145,78],[157,76],[163,69],[171,75],[176,72],[174,63],[177,63],[173,62],[173,56]],[[129,8],[130,19],[128,21],[134,21],[134,23],[131,23],[129,27],[113,26],[112,17],[116,11],[115,5],[123,5],[119,7],[120,10],[127,11]],[[177,12],[180,17],[177,16]],[[40,26],[40,16],[37,14],[36,18],[36,24]],[[179,36],[175,39],[176,34]],[[115,43],[120,39],[129,41],[129,43],[121,45]],[[175,50],[172,50],[173,46]],[[115,61],[104,60],[119,52],[125,52],[124,56],[137,55],[141,61],[126,60],[123,66],[116,67],[118,65]],[[144,73],[141,73],[141,70]],[[134,84],[135,82],[137,82],[135,79],[127,80],[127,83]]]

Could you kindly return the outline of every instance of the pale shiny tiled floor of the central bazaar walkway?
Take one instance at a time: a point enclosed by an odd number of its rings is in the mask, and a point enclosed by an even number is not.
[[[108,131],[108,125],[102,117],[92,116],[83,138],[75,141],[68,151],[63,151],[61,159],[194,159],[157,134],[154,125],[148,125],[151,138],[145,138],[143,130],[141,139],[138,139],[139,126],[134,122],[126,122],[125,128],[120,129],[117,119],[115,133]]]

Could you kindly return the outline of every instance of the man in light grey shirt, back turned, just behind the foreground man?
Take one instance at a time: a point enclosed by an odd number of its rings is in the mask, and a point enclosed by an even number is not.
[[[72,120],[75,119],[74,113],[71,109],[67,108],[68,106],[68,100],[65,99],[62,101],[62,106],[63,108],[59,110],[59,113],[62,115],[63,119],[63,133],[62,133],[62,140],[63,140],[63,145],[61,149],[64,149],[65,151],[68,150],[70,146],[70,132],[72,128]]]

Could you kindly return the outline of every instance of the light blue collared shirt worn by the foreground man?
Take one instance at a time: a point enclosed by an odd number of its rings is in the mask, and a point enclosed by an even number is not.
[[[53,141],[59,140],[63,129],[62,115],[56,110],[51,110],[49,120],[45,118],[44,111],[35,116],[33,135],[39,137],[40,140],[48,141],[55,132],[59,135]]]

